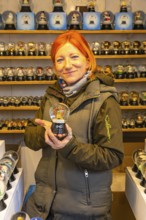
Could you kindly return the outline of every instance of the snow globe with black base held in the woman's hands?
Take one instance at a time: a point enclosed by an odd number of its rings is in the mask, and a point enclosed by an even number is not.
[[[70,109],[64,103],[58,103],[52,106],[49,110],[49,115],[52,120],[52,132],[59,139],[62,140],[67,136],[66,121],[70,114]]]

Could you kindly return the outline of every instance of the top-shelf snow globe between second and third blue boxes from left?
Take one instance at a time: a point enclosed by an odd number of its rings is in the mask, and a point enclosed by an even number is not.
[[[71,11],[67,17],[68,29],[81,30],[82,28],[82,15],[79,11]]]

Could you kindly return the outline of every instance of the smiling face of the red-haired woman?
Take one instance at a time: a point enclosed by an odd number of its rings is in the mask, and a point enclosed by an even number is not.
[[[89,67],[87,58],[71,43],[61,46],[55,56],[55,70],[68,85],[80,80]]]

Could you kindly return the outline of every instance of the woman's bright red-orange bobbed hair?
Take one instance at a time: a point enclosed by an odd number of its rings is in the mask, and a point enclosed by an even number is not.
[[[88,42],[78,31],[75,30],[69,30],[60,34],[53,42],[51,47],[51,59],[53,63],[55,63],[55,56],[58,49],[67,42],[74,45],[89,60],[89,70],[94,72],[96,69],[95,57]]]

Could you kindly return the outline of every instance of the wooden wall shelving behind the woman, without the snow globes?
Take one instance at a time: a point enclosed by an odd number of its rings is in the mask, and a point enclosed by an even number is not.
[[[135,40],[145,41],[146,30],[79,30],[82,33],[87,41],[92,44],[93,42],[103,42],[105,41],[126,41],[130,40],[131,42]],[[16,41],[25,41],[31,42],[35,38],[35,42],[46,42],[51,43],[53,39],[60,33],[63,33],[62,30],[0,30],[1,42],[16,42]],[[114,67],[115,65],[141,65],[145,64],[146,54],[97,54],[95,55],[97,64],[101,66],[110,65]],[[51,65],[50,56],[47,54],[45,56],[0,56],[0,67],[15,67],[24,66],[37,68],[41,66]],[[54,83],[53,80],[0,80],[0,96],[41,96],[44,94],[48,84]],[[115,86],[118,89],[118,92],[121,91],[133,91],[137,90],[142,92],[145,90],[146,77],[135,77],[135,78],[123,78],[115,79]],[[12,119],[27,119],[34,116],[35,111],[39,106],[0,106],[1,117],[0,123],[3,120],[12,120]],[[121,106],[122,114],[124,117],[133,117],[133,114],[142,114],[144,120],[144,126],[135,127],[135,128],[123,128],[124,133],[129,132],[146,132],[146,105],[126,105]],[[125,116],[126,115],[126,116]],[[5,127],[0,129],[0,135],[8,134],[23,134],[24,130],[13,130],[6,129]],[[19,138],[17,138],[19,139]]]

